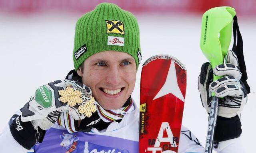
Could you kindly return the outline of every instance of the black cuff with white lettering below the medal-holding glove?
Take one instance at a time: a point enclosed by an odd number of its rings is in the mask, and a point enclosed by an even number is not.
[[[31,122],[22,122],[20,116],[18,116],[10,126],[12,137],[26,149],[31,149],[36,143],[36,130]],[[44,139],[45,131],[38,127],[39,139],[41,143]]]

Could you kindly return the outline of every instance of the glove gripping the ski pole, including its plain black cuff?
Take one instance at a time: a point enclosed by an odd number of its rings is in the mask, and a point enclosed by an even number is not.
[[[247,102],[247,90],[240,80],[242,74],[238,59],[233,51],[228,51],[226,63],[212,69],[210,63],[204,63],[198,78],[198,90],[206,112],[210,112],[212,92],[220,97],[214,141],[220,142],[239,137],[241,129],[241,112]],[[213,81],[213,74],[223,76]]]

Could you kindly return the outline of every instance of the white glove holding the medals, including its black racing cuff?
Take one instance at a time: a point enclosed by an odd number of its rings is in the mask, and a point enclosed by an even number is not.
[[[42,142],[45,130],[50,128],[64,111],[75,120],[86,117],[78,112],[77,106],[60,102],[58,90],[68,86],[83,91],[83,94],[92,95],[90,88],[73,80],[56,80],[40,86],[22,108],[22,114],[10,126],[12,136],[20,145],[30,149],[35,143]]]

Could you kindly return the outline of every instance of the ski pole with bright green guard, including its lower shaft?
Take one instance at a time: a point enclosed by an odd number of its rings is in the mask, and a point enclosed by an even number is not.
[[[200,48],[204,56],[210,61],[212,68],[224,63],[232,35],[232,20],[236,12],[234,8],[221,6],[211,8],[202,17]],[[213,76],[214,80],[221,78]],[[208,118],[205,153],[212,153],[214,144],[214,130],[218,115],[218,97],[212,93],[211,109]]]

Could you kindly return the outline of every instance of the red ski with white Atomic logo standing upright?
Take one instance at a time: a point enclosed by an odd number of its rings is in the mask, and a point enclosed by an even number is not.
[[[140,153],[177,153],[186,95],[186,68],[175,57],[156,55],[142,67]]]

